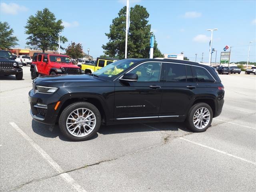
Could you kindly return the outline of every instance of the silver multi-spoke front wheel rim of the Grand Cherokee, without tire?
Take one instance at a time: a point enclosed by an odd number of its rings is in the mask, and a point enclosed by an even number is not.
[[[84,137],[92,132],[96,126],[95,114],[86,108],[72,111],[67,118],[68,132],[76,137]]]

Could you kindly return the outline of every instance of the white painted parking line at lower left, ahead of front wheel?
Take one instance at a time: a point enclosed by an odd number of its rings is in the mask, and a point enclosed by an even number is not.
[[[40,148],[38,144],[36,144],[26,133],[24,133],[18,127],[18,125],[16,125],[14,122],[11,122],[10,125],[14,129],[16,129],[16,131],[19,132],[30,143],[32,147],[36,149],[36,151],[48,162],[48,164],[50,164],[50,166],[52,166],[52,168],[54,168],[60,174],[61,178],[66,181],[74,190],[76,190],[77,192],[86,192],[86,190],[84,190],[82,186],[77,184],[69,174],[63,173],[64,170],[42,148]]]

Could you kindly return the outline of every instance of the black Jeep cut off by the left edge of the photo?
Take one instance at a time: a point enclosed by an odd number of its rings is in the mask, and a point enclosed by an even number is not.
[[[15,57],[10,51],[0,50],[0,74],[6,76],[15,75],[17,80],[22,80],[22,68],[14,59]]]

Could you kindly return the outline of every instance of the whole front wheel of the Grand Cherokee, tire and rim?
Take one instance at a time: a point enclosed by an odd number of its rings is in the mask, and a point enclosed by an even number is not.
[[[101,125],[99,110],[91,103],[76,102],[67,106],[59,119],[60,131],[73,141],[92,138]]]

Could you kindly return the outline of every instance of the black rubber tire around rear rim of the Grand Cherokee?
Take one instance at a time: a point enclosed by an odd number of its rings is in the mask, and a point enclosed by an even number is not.
[[[194,125],[193,118],[194,118],[194,114],[195,114],[196,110],[198,110],[201,107],[207,108],[209,110],[209,112],[210,112],[210,121],[209,121],[208,125],[205,128],[198,129]],[[208,104],[206,104],[206,103],[194,104],[188,112],[188,115],[187,115],[187,118],[186,118],[186,125],[188,126],[188,129],[192,130],[193,132],[204,132],[211,126],[212,116],[213,116],[212,108]]]

